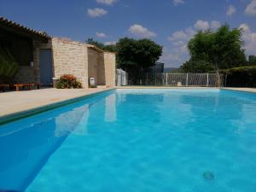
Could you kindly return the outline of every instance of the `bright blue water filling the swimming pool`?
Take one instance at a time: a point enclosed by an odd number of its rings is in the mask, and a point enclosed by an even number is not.
[[[256,95],[111,90],[0,126],[0,191],[255,192]]]

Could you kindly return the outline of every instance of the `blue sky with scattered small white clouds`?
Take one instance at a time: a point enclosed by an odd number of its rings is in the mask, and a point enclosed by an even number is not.
[[[54,37],[113,44],[151,38],[164,46],[160,61],[179,67],[196,31],[223,23],[244,30],[247,55],[256,55],[256,0],[0,0],[0,15]]]

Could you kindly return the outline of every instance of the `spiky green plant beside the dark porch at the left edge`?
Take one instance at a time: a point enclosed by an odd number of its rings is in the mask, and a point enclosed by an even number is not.
[[[0,81],[3,83],[13,79],[18,71],[18,63],[11,55],[9,49],[0,47]]]

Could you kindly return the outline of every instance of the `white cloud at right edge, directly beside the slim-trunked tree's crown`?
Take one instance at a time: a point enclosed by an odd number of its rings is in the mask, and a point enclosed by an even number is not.
[[[250,27],[243,23],[239,28],[242,29],[242,39],[247,55],[256,55],[256,32],[252,32]]]

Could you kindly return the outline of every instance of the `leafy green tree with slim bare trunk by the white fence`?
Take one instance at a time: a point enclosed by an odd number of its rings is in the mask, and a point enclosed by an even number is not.
[[[217,86],[220,84],[219,69],[240,67],[246,64],[244,49],[241,49],[241,30],[224,25],[216,32],[198,32],[189,41],[188,48],[192,61],[205,61],[214,65]]]

